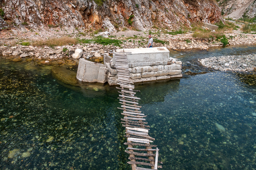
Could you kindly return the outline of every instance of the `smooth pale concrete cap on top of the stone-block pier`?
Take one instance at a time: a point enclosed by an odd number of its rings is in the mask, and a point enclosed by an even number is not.
[[[153,47],[153,48],[128,48],[118,49],[117,52],[131,52],[127,53],[128,63],[141,63],[167,61],[169,59],[169,50],[166,47]],[[114,58],[114,55],[113,55]],[[114,62],[115,63],[115,62]]]

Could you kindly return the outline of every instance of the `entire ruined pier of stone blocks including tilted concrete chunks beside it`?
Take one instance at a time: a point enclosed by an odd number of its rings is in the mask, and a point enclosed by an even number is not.
[[[129,76],[133,83],[182,77],[182,62],[169,57],[166,47],[119,49],[117,52],[127,52]],[[108,82],[110,86],[117,85],[118,77],[114,64],[115,54],[113,58],[104,54],[104,65],[81,58],[77,79],[83,82]]]

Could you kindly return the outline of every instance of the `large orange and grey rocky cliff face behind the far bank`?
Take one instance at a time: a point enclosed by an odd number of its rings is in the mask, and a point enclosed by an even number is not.
[[[97,3],[96,3],[97,2]],[[153,25],[175,28],[191,22],[222,20],[214,0],[2,0],[5,20],[31,28],[44,25],[107,28],[109,32],[130,24],[141,31]],[[102,3],[103,2],[103,3]],[[0,0],[1,5],[1,0]],[[129,24],[130,23],[130,24]]]

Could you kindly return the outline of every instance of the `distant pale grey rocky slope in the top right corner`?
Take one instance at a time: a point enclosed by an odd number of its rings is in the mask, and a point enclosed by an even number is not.
[[[225,17],[256,17],[256,0],[220,0],[218,3]]]

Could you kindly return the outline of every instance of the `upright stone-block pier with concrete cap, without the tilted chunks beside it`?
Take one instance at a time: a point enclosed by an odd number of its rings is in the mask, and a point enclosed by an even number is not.
[[[182,62],[169,57],[166,47],[119,49],[117,52],[127,52],[129,76],[133,83],[181,78]],[[108,62],[109,61],[109,62]],[[117,84],[117,71],[114,69],[115,55],[104,56],[104,65],[109,69],[109,85]]]

